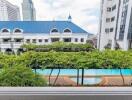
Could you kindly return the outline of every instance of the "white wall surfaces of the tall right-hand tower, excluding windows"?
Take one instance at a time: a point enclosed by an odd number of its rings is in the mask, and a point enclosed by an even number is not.
[[[98,47],[98,49],[104,50],[104,46],[108,43],[109,40],[111,40],[112,41],[112,48],[111,49],[114,49],[115,43],[117,42],[123,50],[128,50],[128,44],[129,43],[127,40],[127,36],[128,36],[128,28],[129,28],[129,22],[130,22],[131,8],[132,8],[132,0],[129,0],[128,3],[129,3],[129,6],[128,6],[128,15],[126,18],[127,21],[126,21],[124,39],[123,39],[123,41],[120,41],[119,40],[119,34],[120,34],[123,0],[121,0],[120,10],[118,10],[119,0],[112,0],[112,1],[104,0],[104,4],[102,6],[102,10],[103,10],[102,23],[100,23],[102,25],[101,26],[102,28],[100,30],[101,31],[100,38],[98,38],[98,43],[100,41],[100,47]],[[116,10],[114,10],[112,12],[107,12],[107,7],[112,7],[115,4],[116,4]],[[119,12],[119,16],[118,16],[118,12]],[[113,16],[115,16],[115,21],[106,23],[106,18],[112,18]],[[119,20],[117,20],[117,19],[119,19]],[[111,28],[111,27],[114,28],[114,31],[110,32],[110,33],[106,33],[105,28]],[[116,34],[116,28],[117,28],[117,37],[115,37],[116,36],[115,35]]]

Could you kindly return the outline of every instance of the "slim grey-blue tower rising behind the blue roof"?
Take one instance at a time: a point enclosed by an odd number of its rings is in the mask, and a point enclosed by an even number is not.
[[[23,0],[22,3],[22,14],[24,21],[35,21],[36,20],[36,10],[32,0]]]

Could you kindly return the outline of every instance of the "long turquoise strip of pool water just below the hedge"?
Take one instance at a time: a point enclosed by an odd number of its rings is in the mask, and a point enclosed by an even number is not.
[[[49,75],[51,72],[50,69],[45,69],[41,70],[38,69],[37,73],[41,75]],[[59,72],[58,69],[54,69],[52,72],[52,75],[57,75]],[[80,75],[81,75],[81,70],[79,70]],[[119,69],[89,69],[84,71],[85,75],[120,75],[120,70]],[[132,70],[131,69],[122,69],[122,74],[123,75],[132,75]],[[77,75],[77,70],[76,69],[61,69],[60,75]]]

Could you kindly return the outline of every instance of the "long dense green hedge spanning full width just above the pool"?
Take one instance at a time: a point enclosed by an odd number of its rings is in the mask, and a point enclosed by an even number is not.
[[[38,68],[86,68],[86,69],[127,69],[132,68],[131,51],[93,51],[93,52],[35,52],[21,55],[0,54],[2,67],[22,64],[32,69]]]

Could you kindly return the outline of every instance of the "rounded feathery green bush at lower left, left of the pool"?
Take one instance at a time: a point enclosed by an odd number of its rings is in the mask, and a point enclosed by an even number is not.
[[[46,80],[22,65],[3,68],[0,73],[0,86],[46,86]]]

